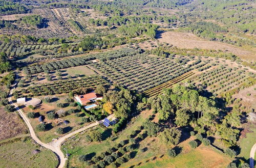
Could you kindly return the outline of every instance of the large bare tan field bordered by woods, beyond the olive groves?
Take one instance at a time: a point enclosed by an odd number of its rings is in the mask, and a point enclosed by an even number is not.
[[[230,44],[204,40],[191,33],[163,32],[157,35],[159,42],[169,43],[179,48],[221,49],[238,55],[241,59],[256,61],[256,50],[248,51]]]

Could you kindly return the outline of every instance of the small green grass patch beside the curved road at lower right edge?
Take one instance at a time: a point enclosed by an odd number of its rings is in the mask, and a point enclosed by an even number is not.
[[[256,143],[256,128],[250,130],[253,132],[246,133],[246,137],[240,141],[241,153],[239,156],[246,160],[250,158],[251,147]]]

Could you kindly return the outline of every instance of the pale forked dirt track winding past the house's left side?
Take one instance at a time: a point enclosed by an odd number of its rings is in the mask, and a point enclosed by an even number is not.
[[[17,82],[17,79],[18,79],[18,74],[16,73],[16,78],[15,78],[14,84],[12,85],[12,88],[11,88],[10,93],[9,93],[9,96],[8,96],[9,103],[10,103],[11,105],[14,105],[14,106],[15,106],[15,108],[16,108],[16,110],[18,111],[19,115],[23,118],[23,120],[24,120],[25,123],[27,124],[27,126],[28,126],[28,128],[29,128],[30,135],[31,135],[31,137],[34,139],[34,141],[35,141],[37,144],[41,145],[42,147],[45,147],[45,148],[47,148],[47,149],[53,151],[53,152],[57,155],[58,160],[59,160],[59,163],[58,163],[58,165],[57,165],[56,167],[59,167],[59,168],[64,167],[67,158],[65,157],[65,155],[63,154],[63,152],[60,150],[61,144],[62,144],[63,142],[65,142],[65,140],[66,140],[67,138],[69,138],[69,137],[71,137],[71,136],[74,136],[75,134],[77,134],[77,133],[79,133],[79,132],[82,132],[82,131],[84,131],[84,130],[87,130],[87,129],[89,129],[89,128],[92,128],[92,127],[98,125],[99,122],[94,122],[94,123],[91,123],[91,124],[89,124],[89,125],[87,125],[87,126],[84,126],[84,127],[82,127],[82,128],[79,128],[79,129],[77,129],[77,130],[75,130],[75,131],[73,131],[73,132],[70,132],[70,133],[68,133],[68,134],[66,134],[66,135],[63,135],[63,136],[59,137],[58,139],[55,139],[55,140],[54,140],[53,142],[51,142],[51,143],[45,144],[45,143],[41,142],[40,139],[36,136],[35,131],[33,130],[33,127],[31,126],[31,124],[30,124],[30,122],[29,122],[29,119],[28,119],[27,116],[23,113],[22,109],[20,109],[16,103],[13,103],[13,102],[12,102],[11,95],[12,95],[13,90],[15,89],[15,87],[16,87],[16,85],[17,85],[17,83],[18,83],[18,82]],[[113,117],[114,117],[114,115],[110,115],[110,116],[108,117],[108,119],[111,119],[111,118],[113,118]]]

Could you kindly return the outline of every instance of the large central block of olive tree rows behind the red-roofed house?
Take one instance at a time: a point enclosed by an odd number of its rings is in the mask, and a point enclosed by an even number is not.
[[[208,64],[195,58],[189,61],[193,63],[180,65],[171,58],[154,57],[143,53],[111,61],[105,60],[90,66],[119,85],[143,92]]]

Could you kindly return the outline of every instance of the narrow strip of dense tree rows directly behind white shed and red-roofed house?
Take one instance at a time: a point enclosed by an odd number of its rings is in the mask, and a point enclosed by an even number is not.
[[[45,83],[19,90],[19,97],[22,96],[42,96],[70,93],[77,89],[95,89],[97,85],[106,85],[108,83],[100,76],[89,76],[81,79],[60,80],[56,82]]]

